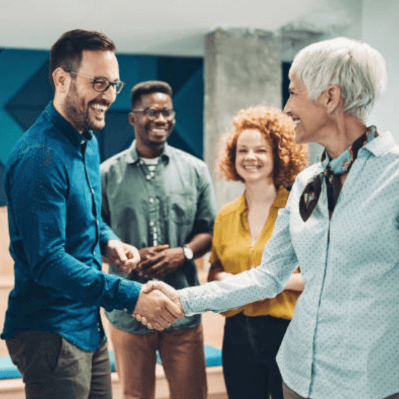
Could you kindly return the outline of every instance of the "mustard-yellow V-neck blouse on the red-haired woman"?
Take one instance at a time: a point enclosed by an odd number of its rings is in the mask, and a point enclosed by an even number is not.
[[[280,188],[266,224],[254,245],[249,232],[248,207],[244,194],[220,210],[213,231],[209,281],[220,271],[237,274],[260,264],[263,249],[272,235],[278,210],[285,207],[287,199],[288,191]],[[300,292],[297,291],[283,291],[275,298],[254,302],[222,314],[231,317],[243,312],[246,316],[268,315],[291,320],[299,295]]]

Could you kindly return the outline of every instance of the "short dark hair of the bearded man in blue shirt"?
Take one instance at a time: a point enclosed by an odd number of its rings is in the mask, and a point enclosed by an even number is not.
[[[115,52],[115,43],[100,31],[74,29],[65,32],[50,51],[49,79],[53,86],[53,72],[59,67],[67,72],[77,71],[84,50]]]

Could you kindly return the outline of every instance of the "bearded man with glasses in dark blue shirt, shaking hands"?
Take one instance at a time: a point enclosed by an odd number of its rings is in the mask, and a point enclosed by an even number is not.
[[[101,218],[99,152],[92,129],[122,90],[115,45],[101,32],[73,30],[50,53],[54,99],[14,146],[6,166],[15,287],[2,338],[23,375],[27,399],[111,399],[100,307],[157,328],[181,313],[165,296],[102,272],[102,255],[121,272],[140,256]]]

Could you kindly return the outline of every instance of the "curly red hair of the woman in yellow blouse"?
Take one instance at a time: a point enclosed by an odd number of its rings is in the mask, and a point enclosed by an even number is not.
[[[264,106],[242,109],[233,118],[233,128],[222,136],[217,171],[225,180],[243,181],[237,173],[236,149],[240,134],[247,129],[258,129],[273,149],[274,185],[289,187],[296,175],[307,166],[307,146],[294,140],[294,123],[283,112]]]

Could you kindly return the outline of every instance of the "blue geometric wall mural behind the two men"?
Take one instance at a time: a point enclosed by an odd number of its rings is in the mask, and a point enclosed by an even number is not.
[[[128,123],[130,90],[144,80],[164,80],[173,88],[175,131],[168,140],[203,156],[203,59],[117,54],[126,87],[107,113],[106,127],[95,132],[101,160],[126,149],[134,138]],[[0,206],[4,205],[3,167],[16,140],[53,97],[48,51],[0,49]]]

